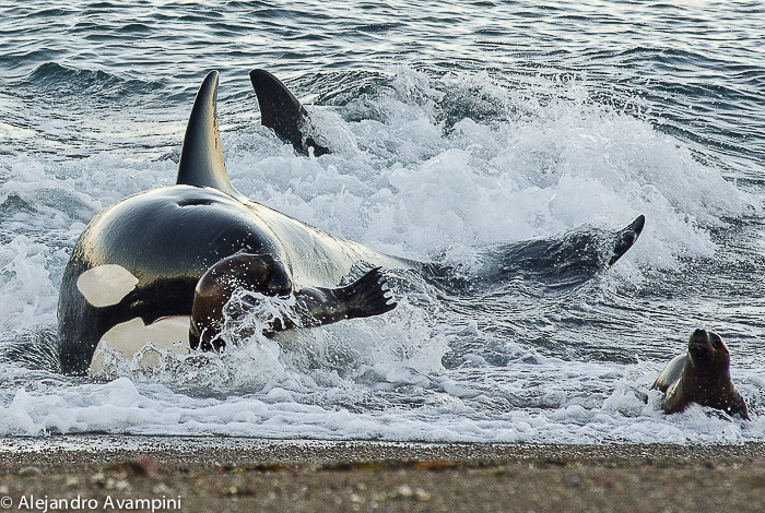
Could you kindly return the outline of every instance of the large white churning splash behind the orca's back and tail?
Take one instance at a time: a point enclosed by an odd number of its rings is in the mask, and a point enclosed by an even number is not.
[[[619,228],[643,213],[646,230],[626,262],[671,269],[680,254],[713,254],[698,225],[754,208],[680,142],[587,102],[575,84],[575,94],[558,92],[574,99],[492,123],[466,118],[445,135],[432,100],[411,100],[437,96],[429,82],[401,73],[405,92],[375,105],[384,120],[348,123],[360,150],[313,160],[281,147],[229,155],[237,187],[343,237],[423,259],[582,224]],[[505,91],[507,109],[522,103],[528,110],[528,93]]]

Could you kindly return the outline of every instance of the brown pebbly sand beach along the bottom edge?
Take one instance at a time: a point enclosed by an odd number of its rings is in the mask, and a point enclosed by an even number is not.
[[[0,439],[8,511],[763,511],[765,444]]]

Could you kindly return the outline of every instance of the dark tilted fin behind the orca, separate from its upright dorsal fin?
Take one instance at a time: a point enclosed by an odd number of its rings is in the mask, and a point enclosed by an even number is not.
[[[252,70],[249,80],[258,97],[263,127],[272,129],[280,139],[292,143],[303,154],[308,154],[309,146],[314,147],[317,157],[330,153],[329,148],[304,133],[308,112],[279,79],[266,70]]]

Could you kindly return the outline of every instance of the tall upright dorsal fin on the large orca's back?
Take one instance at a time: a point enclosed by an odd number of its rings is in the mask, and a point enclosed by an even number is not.
[[[223,160],[217,128],[217,71],[208,73],[197,92],[180,150],[176,184],[213,187],[242,198],[228,179]]]

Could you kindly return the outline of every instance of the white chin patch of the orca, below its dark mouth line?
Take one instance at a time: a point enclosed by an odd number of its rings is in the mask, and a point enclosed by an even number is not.
[[[139,367],[150,369],[160,363],[161,350],[185,355],[189,349],[188,315],[162,318],[149,325],[141,318],[136,318],[117,324],[104,334],[93,354],[89,372],[94,375],[104,370],[107,351],[119,351],[127,360],[134,359],[141,353]]]

